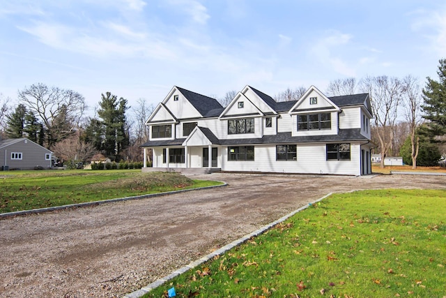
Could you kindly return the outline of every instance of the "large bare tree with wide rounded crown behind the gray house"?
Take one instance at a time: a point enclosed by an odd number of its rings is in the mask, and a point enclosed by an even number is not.
[[[68,137],[79,126],[86,108],[81,94],[42,83],[19,91],[19,100],[43,122],[48,147]]]

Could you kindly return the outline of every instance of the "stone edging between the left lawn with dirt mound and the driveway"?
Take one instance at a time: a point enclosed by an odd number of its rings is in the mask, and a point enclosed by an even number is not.
[[[220,181],[218,181],[220,182]],[[21,215],[27,215],[27,214],[39,214],[44,212],[50,212],[50,211],[56,211],[56,210],[63,210],[63,209],[70,209],[70,208],[80,208],[80,207],[89,207],[89,206],[95,206],[100,204],[107,204],[107,203],[114,203],[114,202],[123,202],[123,201],[129,201],[129,200],[141,200],[146,198],[153,198],[153,197],[160,197],[162,195],[174,195],[175,193],[184,193],[186,191],[197,191],[201,189],[208,189],[208,188],[216,188],[216,187],[222,187],[227,186],[226,182],[223,182],[221,185],[214,185],[214,186],[204,186],[199,188],[189,188],[189,189],[180,189],[178,191],[168,191],[166,193],[150,193],[148,195],[135,195],[133,197],[125,197],[125,198],[116,198],[116,199],[110,199],[110,200],[102,200],[102,201],[95,201],[95,202],[84,202],[84,203],[78,203],[78,204],[68,204],[63,206],[55,206],[55,207],[48,207],[48,208],[39,208],[39,209],[31,209],[31,210],[23,210],[23,211],[14,211],[14,212],[6,212],[0,214],[0,218],[7,218],[12,216],[21,216]]]

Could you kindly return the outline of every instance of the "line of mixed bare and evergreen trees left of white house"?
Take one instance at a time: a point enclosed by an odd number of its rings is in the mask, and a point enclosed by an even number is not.
[[[32,84],[18,92],[18,104],[0,97],[0,137],[26,137],[54,151],[61,163],[86,162],[102,154],[116,163],[142,161],[140,145],[148,140],[145,121],[153,111],[144,98],[128,118],[128,100],[101,94],[93,117],[86,117],[85,98],[76,91]]]

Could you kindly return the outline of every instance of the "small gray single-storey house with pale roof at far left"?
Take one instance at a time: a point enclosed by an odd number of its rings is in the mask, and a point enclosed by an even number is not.
[[[26,138],[0,140],[1,170],[50,168],[52,151]]]

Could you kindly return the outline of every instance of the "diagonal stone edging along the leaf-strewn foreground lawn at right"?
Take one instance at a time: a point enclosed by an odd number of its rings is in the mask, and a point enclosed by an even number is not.
[[[150,292],[151,290],[159,287],[160,285],[166,283],[167,281],[170,281],[172,278],[185,273],[189,269],[194,269],[195,267],[203,264],[204,262],[208,262],[208,260],[211,260],[217,255],[222,255],[223,253],[226,253],[226,251],[229,251],[231,248],[234,248],[236,246],[240,246],[240,244],[245,243],[247,240],[251,239],[252,237],[259,236],[260,234],[263,234],[264,232],[270,230],[271,228],[274,228],[275,225],[282,223],[286,221],[291,216],[297,214],[298,212],[307,209],[309,206],[311,206],[314,203],[317,203],[325,198],[328,198],[332,193],[328,193],[327,195],[324,195],[322,198],[319,198],[318,200],[315,200],[314,202],[311,202],[303,207],[300,207],[299,209],[291,212],[290,214],[287,214],[286,216],[283,216],[282,218],[277,219],[277,221],[273,221],[272,223],[263,226],[259,230],[255,230],[254,232],[245,235],[244,237],[241,237],[240,239],[237,239],[230,244],[226,244],[222,248],[217,249],[216,251],[213,251],[212,253],[209,253],[208,255],[205,255],[203,258],[200,258],[198,260],[195,260],[194,262],[191,262],[189,265],[186,265],[185,267],[182,267],[171,274],[164,276],[157,281],[154,281],[153,283],[146,285],[144,288],[141,288],[139,290],[136,290],[134,292],[131,292],[130,294],[125,295],[123,298],[139,298],[144,296],[146,293]]]

